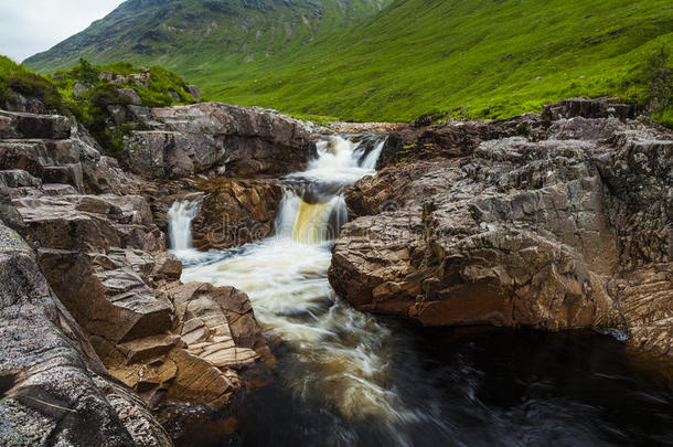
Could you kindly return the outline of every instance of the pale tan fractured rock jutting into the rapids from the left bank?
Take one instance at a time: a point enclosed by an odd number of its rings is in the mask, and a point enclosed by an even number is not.
[[[119,344],[110,372],[151,403],[162,397],[229,404],[241,371],[271,361],[245,294],[231,287],[171,283],[160,295],[175,306],[171,333]],[[139,362],[139,363],[138,363]]]

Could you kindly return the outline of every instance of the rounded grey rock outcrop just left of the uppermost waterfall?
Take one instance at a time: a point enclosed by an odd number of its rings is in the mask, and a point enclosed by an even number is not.
[[[218,103],[127,108],[146,129],[125,138],[129,167],[149,179],[278,177],[301,170],[313,150],[314,129],[273,110]]]

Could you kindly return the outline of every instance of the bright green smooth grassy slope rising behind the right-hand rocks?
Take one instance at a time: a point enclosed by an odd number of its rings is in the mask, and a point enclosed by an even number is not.
[[[673,46],[667,0],[398,0],[291,58],[183,70],[212,97],[296,114],[495,118],[569,96],[641,99],[641,64],[660,44]]]

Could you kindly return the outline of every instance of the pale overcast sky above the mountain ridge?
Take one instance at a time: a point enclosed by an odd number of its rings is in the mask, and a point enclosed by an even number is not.
[[[125,0],[0,0],[0,54],[21,62],[104,18]]]

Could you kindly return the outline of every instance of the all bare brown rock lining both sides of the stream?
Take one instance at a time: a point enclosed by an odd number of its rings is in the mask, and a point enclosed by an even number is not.
[[[158,423],[164,404],[232,406],[273,368],[244,292],[180,281],[167,212],[203,194],[202,249],[267,237],[276,178],[330,130],[214,103],[125,107],[143,130],[124,166],[70,118],[0,110],[2,445],[169,446],[184,430]],[[425,326],[616,329],[670,358],[673,134],[637,111],[571,99],[357,127],[388,135],[378,173],[348,191],[333,288]]]

